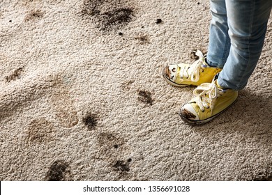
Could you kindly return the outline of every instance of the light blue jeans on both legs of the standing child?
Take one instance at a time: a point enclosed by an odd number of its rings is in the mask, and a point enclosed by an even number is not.
[[[222,68],[218,84],[241,90],[262,53],[272,0],[211,0],[207,62]]]

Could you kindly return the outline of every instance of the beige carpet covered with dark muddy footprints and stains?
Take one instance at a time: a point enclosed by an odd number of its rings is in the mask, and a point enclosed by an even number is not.
[[[203,126],[165,64],[207,48],[209,1],[0,1],[0,180],[267,180],[271,51]],[[158,20],[160,19],[160,20]]]

